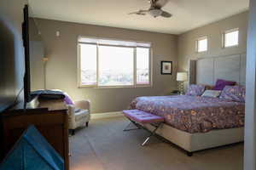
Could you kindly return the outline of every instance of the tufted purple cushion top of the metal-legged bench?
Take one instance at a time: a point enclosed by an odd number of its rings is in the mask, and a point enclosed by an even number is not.
[[[126,117],[130,118],[134,122],[140,123],[153,123],[164,122],[164,117],[156,116],[151,113],[139,110],[126,110],[123,111]]]

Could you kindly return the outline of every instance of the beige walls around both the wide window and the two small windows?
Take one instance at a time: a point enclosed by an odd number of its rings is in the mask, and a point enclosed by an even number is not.
[[[46,87],[66,91],[74,100],[90,99],[95,113],[121,111],[131,99],[143,95],[165,95],[177,87],[175,71],[188,71],[189,59],[229,54],[244,54],[247,48],[247,12],[236,14],[179,36],[148,31],[134,31],[105,26],[91,26],[55,20],[38,19],[49,57],[46,67]],[[222,33],[240,29],[239,47],[222,48]],[[56,37],[55,32],[61,36]],[[77,86],[77,38],[78,36],[109,37],[153,43],[152,88],[78,88]],[[195,40],[208,37],[208,51],[195,53]],[[174,62],[173,76],[160,75],[160,61]],[[178,62],[178,65],[177,65]],[[38,77],[40,78],[40,77]]]

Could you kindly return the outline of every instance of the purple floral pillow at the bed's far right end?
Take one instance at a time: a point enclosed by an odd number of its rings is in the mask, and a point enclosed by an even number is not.
[[[245,102],[246,90],[242,86],[226,86],[220,94],[220,99],[229,99],[237,102]]]

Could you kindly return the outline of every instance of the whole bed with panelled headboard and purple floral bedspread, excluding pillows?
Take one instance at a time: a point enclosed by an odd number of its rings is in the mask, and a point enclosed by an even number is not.
[[[189,61],[189,84],[213,85],[218,78],[245,83],[246,54],[202,58]],[[189,155],[244,138],[245,104],[201,96],[138,97],[130,109],[165,117],[156,132]],[[153,127],[145,125],[148,130]]]

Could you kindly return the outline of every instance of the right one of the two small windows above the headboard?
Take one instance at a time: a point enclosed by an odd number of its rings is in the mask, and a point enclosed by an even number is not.
[[[238,28],[225,31],[223,36],[224,48],[233,47],[238,45],[239,30]]]

